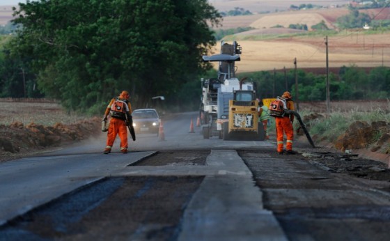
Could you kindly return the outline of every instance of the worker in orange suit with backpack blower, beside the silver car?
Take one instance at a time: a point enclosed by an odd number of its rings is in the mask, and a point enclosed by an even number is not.
[[[127,126],[133,124],[132,105],[129,102],[129,92],[122,91],[116,98],[112,98],[104,112],[103,120],[107,121],[107,116],[111,116],[109,130],[107,132],[106,148],[104,154],[111,153],[112,146],[118,134],[120,138],[120,152],[127,153]]]

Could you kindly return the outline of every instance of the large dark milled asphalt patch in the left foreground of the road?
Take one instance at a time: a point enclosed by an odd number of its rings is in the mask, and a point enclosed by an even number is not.
[[[9,221],[0,240],[174,240],[202,180],[106,178]]]

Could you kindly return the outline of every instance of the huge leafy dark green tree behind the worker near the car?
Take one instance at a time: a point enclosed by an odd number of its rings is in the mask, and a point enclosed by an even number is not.
[[[32,59],[38,87],[68,109],[93,110],[123,89],[135,107],[179,102],[182,84],[210,68],[200,56],[220,15],[207,0],[40,0],[20,3],[13,56]],[[169,16],[169,17],[168,17]]]

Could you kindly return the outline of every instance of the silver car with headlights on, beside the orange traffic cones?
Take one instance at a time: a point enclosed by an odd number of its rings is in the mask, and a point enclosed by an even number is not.
[[[159,115],[155,109],[136,109],[132,112],[136,134],[152,133],[159,135]]]

